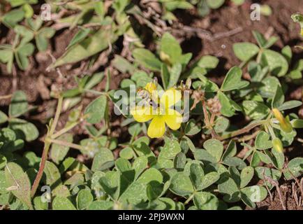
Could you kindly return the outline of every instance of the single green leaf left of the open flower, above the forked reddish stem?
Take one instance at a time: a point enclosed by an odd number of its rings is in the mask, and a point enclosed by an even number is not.
[[[100,123],[105,117],[107,104],[108,100],[104,95],[91,102],[84,111],[84,115],[87,115],[87,122],[91,124]]]

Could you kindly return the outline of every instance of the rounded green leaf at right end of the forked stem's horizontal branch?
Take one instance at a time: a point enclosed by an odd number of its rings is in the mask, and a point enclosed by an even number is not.
[[[112,167],[112,165],[114,165],[114,155],[112,155],[112,151],[108,148],[101,148],[94,157],[91,170],[94,172],[103,171]]]

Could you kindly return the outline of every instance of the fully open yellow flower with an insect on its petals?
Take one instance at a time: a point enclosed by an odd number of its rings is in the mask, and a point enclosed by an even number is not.
[[[148,83],[145,90],[156,91],[156,87],[154,83]],[[151,93],[152,91],[149,92]],[[182,115],[178,111],[171,109],[173,105],[180,101],[181,97],[181,92],[179,90],[170,88],[163,93],[159,100],[157,100],[156,104],[158,105],[156,105],[156,108],[154,105],[150,104],[135,106],[135,108],[131,110],[131,115],[140,123],[151,120],[147,130],[147,135],[149,137],[163,137],[165,125],[168,125],[172,130],[178,130],[181,126]]]

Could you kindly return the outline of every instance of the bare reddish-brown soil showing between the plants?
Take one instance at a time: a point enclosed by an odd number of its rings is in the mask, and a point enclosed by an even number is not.
[[[260,21],[250,20],[250,6],[252,2],[267,3],[271,6],[273,14],[269,17],[261,16]],[[292,13],[297,11],[303,11],[302,0],[267,0],[267,1],[246,1],[246,3],[240,7],[236,6],[223,6],[219,10],[214,10],[209,16],[205,18],[198,17],[195,10],[178,10],[177,18],[178,22],[172,25],[172,34],[174,34],[180,41],[182,41],[182,48],[184,52],[193,52],[193,61],[197,60],[202,55],[215,55],[220,58],[220,64],[217,69],[212,71],[212,78],[220,83],[222,76],[226,74],[226,71],[231,66],[239,64],[239,60],[232,52],[232,44],[236,42],[249,41],[256,43],[251,34],[251,31],[257,30],[263,34],[272,34],[279,36],[279,41],[274,45],[275,50],[281,49],[284,45],[290,45],[294,53],[294,61],[303,57],[302,50],[295,48],[295,45],[303,45],[302,38],[299,37],[299,27],[293,23],[290,18]],[[180,27],[191,27],[194,31],[182,31]],[[228,35],[228,31],[233,29],[239,29],[242,27],[242,31],[237,32],[234,35]],[[208,31],[210,34],[222,34],[219,38],[206,38],[203,36],[203,31]],[[7,29],[1,25],[0,43],[10,43],[13,41],[13,34],[3,35]],[[202,34],[201,34],[202,32]],[[68,45],[69,41],[75,34],[75,30],[72,32],[68,29],[57,32],[56,36],[50,46],[51,54],[57,58],[62,55]],[[6,36],[6,37],[5,37]],[[119,40],[121,42],[121,40]],[[121,45],[121,43],[119,43]],[[148,45],[148,44],[147,44]],[[151,46],[153,48],[153,46]],[[104,71],[105,67],[110,66],[110,59],[112,55],[119,54],[121,49],[113,48],[108,57],[108,62],[105,62],[98,71]],[[17,70],[17,87],[16,89],[24,90],[27,93],[29,102],[35,106],[38,106],[36,111],[29,113],[28,119],[34,120],[34,123],[38,126],[42,135],[45,133],[45,122],[48,118],[51,118],[54,114],[54,107],[56,102],[50,98],[49,91],[51,87],[71,88],[75,85],[73,76],[81,75],[82,63],[62,66],[60,68],[64,77],[59,77],[56,71],[47,72],[45,69],[52,63],[52,59],[45,53],[38,53],[35,57],[31,57],[31,67],[27,71]],[[85,63],[85,62],[83,62]],[[0,66],[0,95],[10,94],[13,92],[13,76],[6,72],[6,66],[1,64]],[[119,87],[119,82],[122,78],[128,77],[128,74],[121,74],[113,70],[112,76],[112,88]],[[40,78],[39,78],[40,77]],[[102,90],[105,80],[96,87],[96,90]],[[290,88],[288,93],[288,99],[302,99],[302,87],[294,86]],[[83,104],[87,104],[91,101],[91,96],[87,96],[87,99]],[[7,110],[9,100],[0,101],[1,109]],[[296,111],[297,112],[297,111]],[[64,113],[61,117],[60,124],[63,125],[66,121],[68,113]],[[123,137],[119,138],[119,143],[124,142],[128,138],[125,134],[125,130],[122,131],[119,123],[121,118],[116,116],[112,117],[112,124],[114,125],[113,131],[116,137],[123,134]],[[75,134],[79,138],[84,134],[82,128],[75,128]],[[80,136],[81,135],[81,136]],[[300,133],[302,136],[302,133]],[[42,136],[41,136],[42,137]],[[79,139],[78,138],[78,139]],[[121,141],[121,142],[120,142]],[[27,147],[33,147],[36,151],[42,151],[42,144],[33,143]],[[302,145],[294,146],[289,149],[288,156],[293,158],[294,156],[302,156]],[[283,183],[283,200],[286,201],[288,209],[302,209],[297,208],[293,197],[291,197],[291,183]],[[274,193],[274,201],[270,202],[269,198],[264,202],[258,204],[258,209],[281,209],[281,203],[279,197]]]

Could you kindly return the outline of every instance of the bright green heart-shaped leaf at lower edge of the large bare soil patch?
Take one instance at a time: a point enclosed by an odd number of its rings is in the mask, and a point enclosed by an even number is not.
[[[231,91],[231,90],[239,90],[243,87],[249,85],[248,81],[241,80],[242,78],[242,70],[239,67],[232,67],[226,77],[223,80],[223,84],[221,86],[222,91]]]

